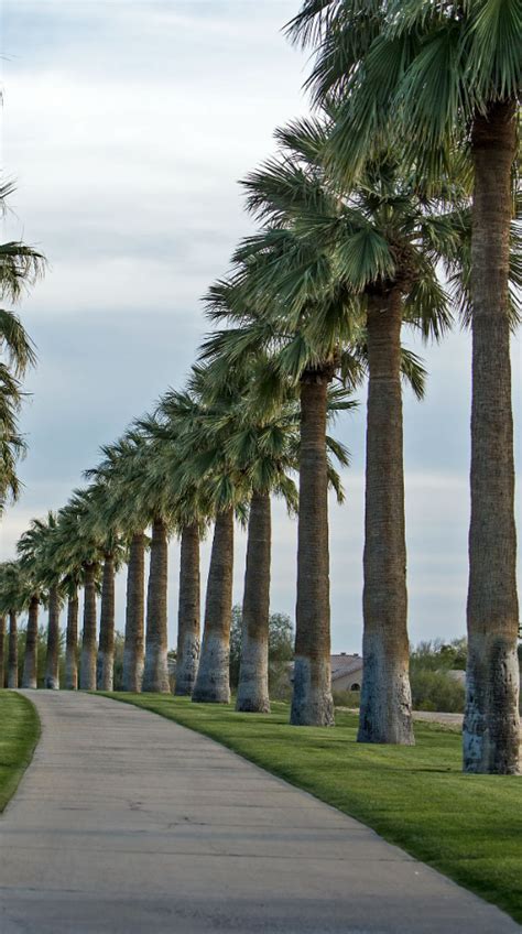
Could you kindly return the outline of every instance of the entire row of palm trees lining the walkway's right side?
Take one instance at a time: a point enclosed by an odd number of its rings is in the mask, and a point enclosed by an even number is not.
[[[511,197],[519,15],[514,0],[501,9],[491,0],[306,0],[289,25],[295,41],[314,48],[316,109],[278,130],[278,154],[243,182],[260,227],[206,296],[218,329],[205,339],[186,389],[168,391],[152,415],[105,448],[88,471],[91,485],[50,517],[47,544],[29,552],[39,567],[47,562],[51,576],[31,567],[20,543],[28,594],[48,594],[50,613],[53,580],[72,576],[85,586],[81,687],[110,685],[113,575],[118,561],[128,561],[126,684],[168,689],[167,539],[177,534],[176,691],[195,702],[229,700],[236,518],[249,526],[237,703],[265,710],[270,496],[279,492],[298,517],[291,723],[333,724],[328,484],[342,493],[328,453],[344,465],[346,452],[328,438],[327,420],[354,404],[367,378],[358,738],[413,742],[401,381],[422,397],[424,371],[401,335],[407,325],[439,339],[458,308],[474,339],[464,765],[518,771],[509,332],[521,284]],[[198,543],[211,522],[199,648]],[[2,579],[17,573],[4,567]],[[0,611],[12,613],[4,593],[0,580]]]

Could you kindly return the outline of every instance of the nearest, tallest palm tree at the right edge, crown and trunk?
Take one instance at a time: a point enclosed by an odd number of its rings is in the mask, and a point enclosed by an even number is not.
[[[471,520],[464,768],[519,771],[518,596],[509,249],[521,86],[518,0],[367,7],[306,0],[291,24],[318,42],[309,84],[336,99],[330,154],[354,176],[402,139],[435,177],[448,153],[474,178]],[[444,82],[441,76],[444,75]],[[455,155],[456,154],[456,155]]]

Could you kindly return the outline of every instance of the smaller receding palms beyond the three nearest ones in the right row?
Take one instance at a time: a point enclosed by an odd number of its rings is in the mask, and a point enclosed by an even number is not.
[[[18,562],[1,567],[0,613],[10,631],[28,608],[23,686],[34,687],[33,629],[37,607],[48,607],[45,686],[57,684],[57,616],[68,596],[66,683],[68,688],[111,689],[115,638],[115,571],[128,563],[123,685],[131,691],[167,692],[167,552],[171,533],[182,542],[176,693],[194,699],[230,699],[228,655],[231,617],[233,520],[246,521],[249,546],[244,599],[244,666],[238,707],[265,709],[268,697],[268,616],[270,588],[270,495],[296,508],[290,471],[296,466],[298,406],[295,394],[261,417],[249,404],[244,377],[217,388],[210,369],[195,368],[186,392],[168,392],[153,416],[139,420],[104,459],[87,471],[93,480],[75,491],[57,514],[34,520],[18,543]],[[242,391],[240,382],[242,381]],[[204,402],[204,399],[207,401]],[[330,393],[331,412],[347,405]],[[328,439],[346,463],[341,445]],[[328,474],[339,497],[338,477]],[[250,504],[250,510],[249,510]],[[215,520],[207,586],[205,631],[199,659],[199,541]],[[151,536],[146,531],[151,531]],[[151,551],[143,639],[144,553]],[[77,589],[84,586],[84,631],[79,682],[76,672]],[[96,597],[100,600],[96,645]],[[259,597],[262,597],[260,602]],[[199,662],[199,664],[198,664]],[[14,686],[10,656],[9,684]]]

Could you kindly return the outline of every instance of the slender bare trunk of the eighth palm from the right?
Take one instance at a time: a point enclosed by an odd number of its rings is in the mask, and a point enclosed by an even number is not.
[[[139,693],[143,680],[143,632],[145,619],[145,536],[133,535],[127,572],[126,644],[123,691]]]

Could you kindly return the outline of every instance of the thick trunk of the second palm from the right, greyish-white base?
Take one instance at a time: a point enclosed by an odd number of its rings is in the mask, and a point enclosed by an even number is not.
[[[411,746],[401,325],[399,289],[368,295],[365,630],[357,739]]]

